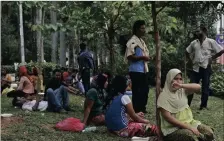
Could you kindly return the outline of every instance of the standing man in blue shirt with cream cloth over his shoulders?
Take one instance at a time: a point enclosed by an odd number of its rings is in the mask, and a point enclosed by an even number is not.
[[[145,34],[145,21],[138,20],[133,26],[133,36],[127,42],[125,58],[129,61],[129,74],[132,81],[132,103],[136,113],[146,113],[149,86],[147,80],[149,51],[142,37]]]

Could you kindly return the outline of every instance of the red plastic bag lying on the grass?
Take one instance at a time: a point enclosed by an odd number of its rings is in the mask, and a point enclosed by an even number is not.
[[[80,119],[71,117],[58,122],[55,128],[63,131],[81,132],[84,129],[84,124],[81,123]]]

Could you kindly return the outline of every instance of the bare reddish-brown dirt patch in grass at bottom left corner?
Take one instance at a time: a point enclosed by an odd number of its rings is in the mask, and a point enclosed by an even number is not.
[[[10,125],[17,124],[23,122],[21,117],[1,117],[1,129],[5,129]]]

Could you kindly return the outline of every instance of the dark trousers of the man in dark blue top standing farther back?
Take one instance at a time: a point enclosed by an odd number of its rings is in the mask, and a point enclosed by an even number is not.
[[[85,93],[90,89],[90,69],[82,70],[82,83],[85,89]]]

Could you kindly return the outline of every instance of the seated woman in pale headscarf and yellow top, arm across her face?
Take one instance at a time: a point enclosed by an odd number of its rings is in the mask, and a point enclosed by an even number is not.
[[[183,84],[182,73],[171,69],[157,105],[160,110],[161,130],[166,141],[212,141],[213,131],[194,120],[187,95],[200,91],[198,84]]]

